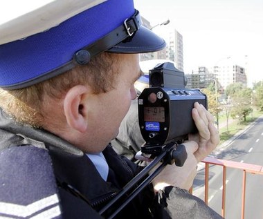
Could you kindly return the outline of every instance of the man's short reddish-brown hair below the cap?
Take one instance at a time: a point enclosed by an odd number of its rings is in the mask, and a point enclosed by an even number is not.
[[[0,106],[19,122],[42,127],[45,122],[45,99],[60,99],[75,85],[89,85],[93,93],[115,88],[120,55],[102,53],[89,64],[77,66],[62,75],[26,88],[6,91],[0,88]]]

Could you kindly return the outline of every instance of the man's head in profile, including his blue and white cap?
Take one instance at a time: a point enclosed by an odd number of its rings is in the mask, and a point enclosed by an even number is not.
[[[19,21],[28,18],[34,23],[27,33]],[[15,35],[10,26],[18,28]],[[141,26],[132,0],[79,0],[77,6],[73,0],[52,1],[8,25],[0,23],[0,30],[5,33],[0,105],[17,120],[42,126],[84,151],[94,150],[81,142],[93,148],[114,137],[135,98],[133,84],[140,76],[135,54],[165,46]]]

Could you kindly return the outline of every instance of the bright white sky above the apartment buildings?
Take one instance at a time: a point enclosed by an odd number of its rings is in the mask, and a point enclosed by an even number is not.
[[[248,83],[263,80],[262,0],[134,0],[134,6],[165,35],[183,36],[184,72],[224,62],[246,68]]]

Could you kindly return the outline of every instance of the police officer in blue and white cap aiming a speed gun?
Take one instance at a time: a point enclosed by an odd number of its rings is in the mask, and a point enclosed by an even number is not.
[[[13,17],[9,6],[0,25],[0,217],[108,218],[115,208],[102,208],[141,170],[107,146],[136,98],[136,53],[165,41],[141,26],[132,0],[42,1]],[[192,116],[199,135],[185,144],[183,167],[167,165],[116,218],[219,218],[185,191],[219,142],[203,106]]]

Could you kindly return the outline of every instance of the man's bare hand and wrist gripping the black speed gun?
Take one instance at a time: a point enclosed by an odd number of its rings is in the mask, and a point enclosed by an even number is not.
[[[189,141],[184,142],[188,158],[183,166],[167,165],[153,180],[154,190],[158,191],[167,186],[190,189],[197,174],[197,163],[206,158],[219,144],[219,133],[214,126],[214,118],[199,103],[194,103],[192,118],[198,133],[190,134]]]

